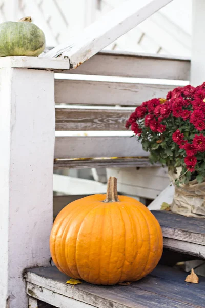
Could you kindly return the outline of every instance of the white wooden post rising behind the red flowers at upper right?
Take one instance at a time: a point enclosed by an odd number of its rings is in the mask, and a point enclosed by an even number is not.
[[[205,81],[204,12],[205,12],[205,1],[192,0],[191,84],[193,86],[198,86]]]

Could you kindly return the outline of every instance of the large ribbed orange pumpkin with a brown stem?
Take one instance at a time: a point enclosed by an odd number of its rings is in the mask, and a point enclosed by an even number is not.
[[[139,201],[117,196],[110,177],[107,196],[93,195],[68,204],[50,236],[57,268],[93,284],[136,281],[149,274],[162,254],[158,221]]]

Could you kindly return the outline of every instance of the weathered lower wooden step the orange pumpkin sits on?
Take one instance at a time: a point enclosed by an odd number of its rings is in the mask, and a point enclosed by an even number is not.
[[[25,277],[31,307],[35,308],[204,308],[205,278],[199,277],[199,284],[189,284],[186,276],[158,265],[150,275],[127,286],[97,286],[83,281],[73,287],[55,266],[29,269]],[[39,305],[37,301],[41,301]]]

